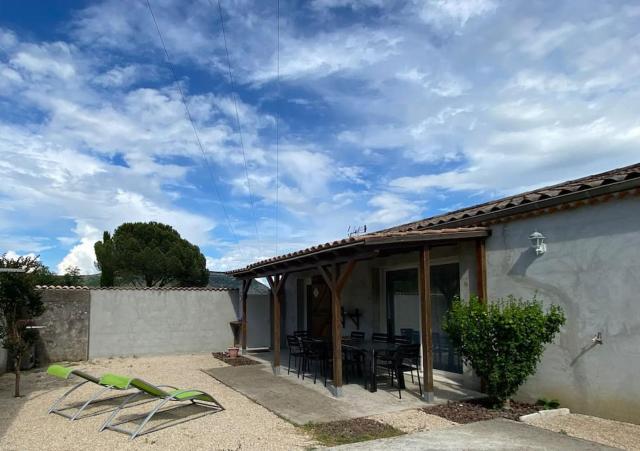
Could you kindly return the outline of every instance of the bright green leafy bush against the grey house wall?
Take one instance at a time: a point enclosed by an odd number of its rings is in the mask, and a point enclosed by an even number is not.
[[[473,297],[456,300],[449,310],[444,331],[465,363],[486,383],[487,394],[502,407],[532,375],[544,346],[565,323],[559,306],[547,312],[534,297],[489,303]]]

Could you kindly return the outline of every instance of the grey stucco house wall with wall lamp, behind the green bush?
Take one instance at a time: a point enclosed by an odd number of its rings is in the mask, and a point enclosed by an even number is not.
[[[528,235],[547,237],[536,256]],[[640,422],[640,199],[492,227],[488,294],[559,304],[567,323],[523,399],[557,398],[576,412]],[[603,345],[591,338],[602,333]]]

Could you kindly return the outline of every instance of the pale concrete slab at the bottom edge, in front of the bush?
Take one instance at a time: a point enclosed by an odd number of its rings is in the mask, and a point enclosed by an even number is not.
[[[336,450],[614,450],[557,432],[505,419],[481,421],[441,429],[418,432],[401,437],[372,440],[338,446]]]

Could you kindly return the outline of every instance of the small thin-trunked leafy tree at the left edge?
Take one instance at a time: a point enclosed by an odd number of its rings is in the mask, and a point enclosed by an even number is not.
[[[1,269],[22,269],[25,272],[4,272]],[[28,326],[44,312],[40,293],[35,289],[42,265],[34,257],[7,258],[0,256],[0,338],[2,346],[13,356],[16,374],[14,396],[20,396],[20,365],[37,335]]]

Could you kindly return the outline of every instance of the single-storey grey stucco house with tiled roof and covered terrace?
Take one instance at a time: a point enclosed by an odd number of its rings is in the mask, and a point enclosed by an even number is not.
[[[331,337],[336,395],[341,337],[352,330],[412,330],[422,344],[427,400],[434,374],[480,388],[442,331],[452,298],[535,295],[562,306],[567,323],[519,398],[557,398],[577,412],[640,420],[640,164],[319,244],[229,274],[242,281],[245,318],[253,307],[247,287],[258,277],[269,281],[276,371],[287,334],[306,329]]]

